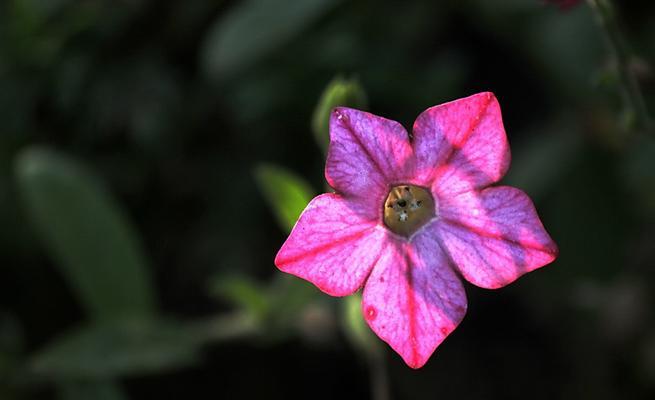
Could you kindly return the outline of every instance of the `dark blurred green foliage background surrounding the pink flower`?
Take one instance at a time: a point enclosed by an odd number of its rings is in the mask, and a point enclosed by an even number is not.
[[[623,78],[655,112],[655,5],[615,6],[623,69],[584,2],[2,1],[0,398],[653,398],[655,135]],[[486,90],[560,257],[467,285],[411,370],[273,258],[330,106],[409,127]]]

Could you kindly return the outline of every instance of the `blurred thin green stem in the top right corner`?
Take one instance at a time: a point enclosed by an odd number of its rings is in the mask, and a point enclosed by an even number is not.
[[[646,108],[646,102],[630,68],[630,52],[628,51],[611,0],[587,0],[596,14],[596,19],[605,32],[610,51],[615,58],[622,88],[622,97],[630,117],[635,118],[640,127],[652,132],[652,120]]]

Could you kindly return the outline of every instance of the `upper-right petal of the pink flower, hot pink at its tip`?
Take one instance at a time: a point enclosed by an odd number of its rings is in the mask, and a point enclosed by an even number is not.
[[[507,136],[493,93],[427,109],[414,122],[413,135],[417,176],[434,180],[437,194],[485,187],[509,167]]]

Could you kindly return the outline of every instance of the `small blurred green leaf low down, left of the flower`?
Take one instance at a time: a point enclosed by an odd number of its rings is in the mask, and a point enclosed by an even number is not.
[[[245,276],[219,276],[213,279],[209,290],[212,295],[227,299],[258,320],[270,309],[264,288]]]

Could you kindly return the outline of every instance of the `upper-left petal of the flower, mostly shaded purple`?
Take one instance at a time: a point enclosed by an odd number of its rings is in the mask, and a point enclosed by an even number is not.
[[[330,148],[325,178],[338,192],[374,199],[378,207],[388,185],[412,176],[409,135],[398,122],[338,107],[330,116]]]

